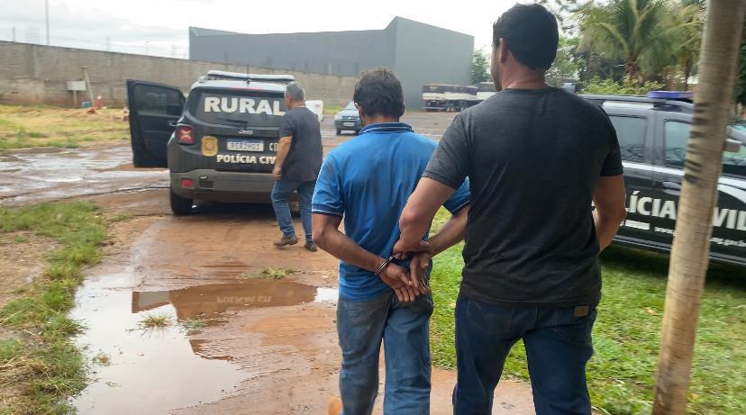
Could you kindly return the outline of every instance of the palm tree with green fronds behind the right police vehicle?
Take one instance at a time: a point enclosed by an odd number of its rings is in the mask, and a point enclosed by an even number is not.
[[[578,10],[579,50],[623,60],[625,77],[641,84],[676,63],[669,14],[665,0],[590,2]]]

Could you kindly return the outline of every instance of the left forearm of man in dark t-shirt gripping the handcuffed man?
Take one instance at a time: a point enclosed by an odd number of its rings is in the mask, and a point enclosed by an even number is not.
[[[425,250],[432,252],[432,246],[429,247],[428,244],[423,242],[423,236],[430,228],[435,213],[454,192],[456,192],[456,189],[432,180],[432,178],[423,177],[420,179],[420,183],[417,184],[414,193],[409,196],[405,209],[399,218],[399,228],[402,233],[394,246],[395,254]],[[445,227],[443,230],[445,230]],[[454,228],[453,230],[457,229]]]

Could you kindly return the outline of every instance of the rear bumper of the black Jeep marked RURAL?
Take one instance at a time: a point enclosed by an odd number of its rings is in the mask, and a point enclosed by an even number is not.
[[[171,189],[187,199],[214,202],[265,202],[268,201],[275,180],[268,173],[225,172],[197,169],[186,173],[171,172]],[[181,185],[181,179],[194,182],[194,188]]]

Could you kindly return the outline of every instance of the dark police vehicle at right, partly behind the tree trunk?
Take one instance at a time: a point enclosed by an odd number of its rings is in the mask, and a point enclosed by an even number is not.
[[[669,251],[691,131],[691,95],[653,92],[647,97],[583,95],[601,105],[614,124],[627,186],[627,218],[615,242]],[[714,209],[711,257],[746,265],[746,127],[728,129],[723,176]],[[738,141],[738,142],[736,142]]]

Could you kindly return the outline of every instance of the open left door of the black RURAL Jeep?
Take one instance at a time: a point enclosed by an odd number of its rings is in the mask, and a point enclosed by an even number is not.
[[[168,167],[166,148],[186,99],[176,86],[127,79],[134,167]]]

